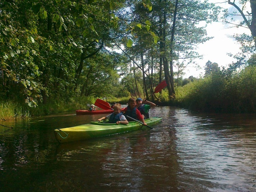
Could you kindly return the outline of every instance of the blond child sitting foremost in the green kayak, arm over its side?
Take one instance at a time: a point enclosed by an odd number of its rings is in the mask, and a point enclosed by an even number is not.
[[[98,119],[98,122],[103,119],[108,119],[109,123],[116,123],[117,125],[121,124],[128,124],[126,117],[121,113],[122,107],[119,103],[114,105],[114,113],[109,114],[108,116],[102,117]]]

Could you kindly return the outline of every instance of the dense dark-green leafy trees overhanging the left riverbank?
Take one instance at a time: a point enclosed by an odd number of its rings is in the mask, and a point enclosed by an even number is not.
[[[87,69],[99,72],[101,80],[110,76],[118,80],[115,58],[103,59],[102,67],[94,57],[106,58],[102,49],[111,46],[109,37],[118,27],[113,12],[122,5],[122,0],[1,1],[0,96],[24,95],[30,106],[36,106],[37,99],[47,103],[49,98],[58,102],[97,95],[81,80],[90,76]]]

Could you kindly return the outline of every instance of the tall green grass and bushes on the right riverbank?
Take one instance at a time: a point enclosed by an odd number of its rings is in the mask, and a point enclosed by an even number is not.
[[[256,67],[232,76],[215,74],[191,82],[178,90],[177,101],[192,110],[214,112],[256,111]]]

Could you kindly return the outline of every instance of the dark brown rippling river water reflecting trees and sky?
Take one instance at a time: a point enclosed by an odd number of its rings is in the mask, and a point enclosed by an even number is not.
[[[65,144],[55,128],[103,115],[0,121],[0,191],[256,191],[256,114],[150,115],[163,117],[153,129]]]

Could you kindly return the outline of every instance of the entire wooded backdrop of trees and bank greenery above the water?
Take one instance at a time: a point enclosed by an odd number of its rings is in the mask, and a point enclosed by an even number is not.
[[[129,97],[254,113],[256,0],[226,2],[237,12],[207,0],[1,1],[0,119],[85,109],[97,98],[125,104]],[[197,45],[211,39],[199,23],[231,22],[226,18],[238,14],[236,26],[251,35],[233,35],[242,44],[230,54],[237,62],[220,69],[208,61],[203,77],[183,79],[201,57]],[[167,88],[154,94],[163,80]]]

